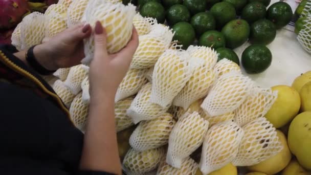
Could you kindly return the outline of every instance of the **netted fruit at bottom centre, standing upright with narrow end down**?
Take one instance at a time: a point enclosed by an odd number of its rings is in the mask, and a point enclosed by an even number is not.
[[[208,124],[197,112],[181,117],[169,136],[166,162],[181,168],[183,160],[203,143]]]

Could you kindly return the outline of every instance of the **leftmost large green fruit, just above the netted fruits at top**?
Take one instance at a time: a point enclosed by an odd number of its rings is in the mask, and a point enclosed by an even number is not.
[[[164,7],[157,2],[148,2],[141,9],[140,14],[144,17],[156,18],[158,23],[164,23],[165,21],[165,10]]]

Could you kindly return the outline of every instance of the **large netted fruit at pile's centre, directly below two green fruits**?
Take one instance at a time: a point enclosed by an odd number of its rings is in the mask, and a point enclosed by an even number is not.
[[[191,76],[188,59],[189,54],[185,51],[171,49],[160,56],[152,74],[152,103],[165,107],[184,88]]]

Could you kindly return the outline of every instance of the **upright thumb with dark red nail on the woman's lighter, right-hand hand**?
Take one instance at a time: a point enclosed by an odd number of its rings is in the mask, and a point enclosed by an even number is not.
[[[101,25],[100,21],[96,21],[95,25],[95,34],[94,34],[94,45],[95,45],[95,53],[94,57],[102,58],[107,57],[107,36],[106,31]]]

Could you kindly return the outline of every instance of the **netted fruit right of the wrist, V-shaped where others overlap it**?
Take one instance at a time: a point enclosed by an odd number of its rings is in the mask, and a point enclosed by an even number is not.
[[[145,84],[138,92],[134,101],[127,110],[127,115],[132,118],[132,121],[137,124],[142,120],[151,120],[164,114],[170,105],[162,107],[159,104],[151,103],[151,83]]]

